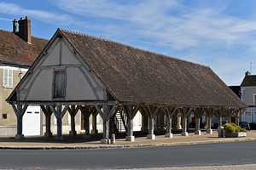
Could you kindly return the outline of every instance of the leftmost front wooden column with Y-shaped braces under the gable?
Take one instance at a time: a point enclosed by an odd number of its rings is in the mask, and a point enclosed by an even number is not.
[[[15,115],[17,117],[17,133],[15,135],[16,139],[22,139],[24,138],[24,135],[22,133],[22,119],[24,116],[24,113],[26,111],[26,108],[28,105],[20,105],[20,104],[11,104],[14,111],[15,111]]]

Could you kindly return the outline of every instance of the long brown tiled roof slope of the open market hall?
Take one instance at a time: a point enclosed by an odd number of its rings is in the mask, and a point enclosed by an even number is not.
[[[245,105],[207,66],[59,30],[120,102],[163,105]]]

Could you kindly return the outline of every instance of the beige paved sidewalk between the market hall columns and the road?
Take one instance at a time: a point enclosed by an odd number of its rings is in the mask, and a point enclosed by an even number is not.
[[[83,137],[64,137],[62,140],[47,138],[26,139],[0,139],[0,149],[99,149],[99,148],[124,148],[124,147],[149,147],[149,146],[171,146],[183,144],[210,144],[237,141],[256,140],[256,131],[247,133],[246,138],[218,138],[218,134],[202,133],[201,136],[189,133],[188,137],[174,135],[172,139],[166,139],[163,135],[156,136],[155,140],[145,137],[136,138],[135,142],[125,139],[117,139],[116,144],[101,144],[99,140],[89,141]]]

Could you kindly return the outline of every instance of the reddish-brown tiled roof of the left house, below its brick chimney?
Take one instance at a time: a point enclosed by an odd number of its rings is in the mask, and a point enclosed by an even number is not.
[[[0,63],[28,67],[38,57],[48,41],[32,37],[32,44],[11,31],[0,30]]]

